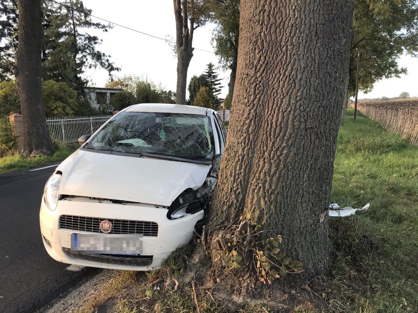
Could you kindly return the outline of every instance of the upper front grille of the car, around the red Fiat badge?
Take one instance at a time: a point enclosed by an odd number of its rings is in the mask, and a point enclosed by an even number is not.
[[[142,234],[148,237],[157,237],[158,235],[158,224],[156,222],[73,215],[61,215],[59,217],[59,228],[100,233],[100,223],[104,220],[112,223],[112,230],[108,234]]]

